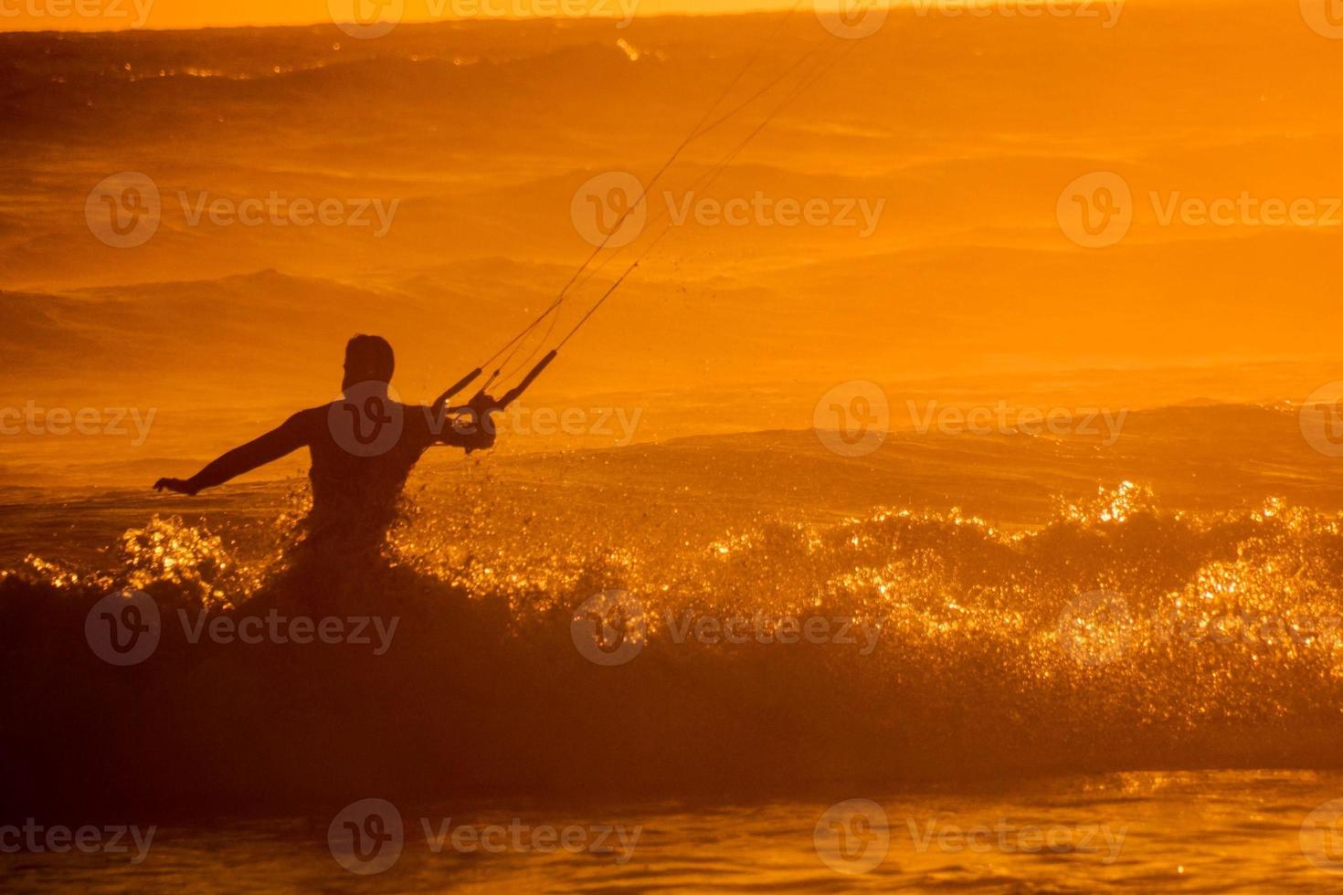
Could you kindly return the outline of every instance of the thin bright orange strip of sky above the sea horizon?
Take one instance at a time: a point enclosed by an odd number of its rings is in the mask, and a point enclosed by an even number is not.
[[[403,21],[607,15],[745,12],[788,8],[794,0],[360,0],[400,4]],[[806,1],[806,0],[804,0]],[[102,31],[130,27],[204,28],[329,21],[353,0],[0,0],[0,31]],[[369,5],[369,9],[373,7]]]

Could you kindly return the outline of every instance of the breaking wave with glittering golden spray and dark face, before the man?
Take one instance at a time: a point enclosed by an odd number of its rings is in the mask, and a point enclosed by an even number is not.
[[[422,494],[379,568],[277,551],[297,503],[228,534],[156,518],[99,572],[31,557],[0,580],[4,711],[27,719],[4,746],[27,781],[11,804],[800,792],[1343,755],[1338,514],[1166,511],[1124,483],[1009,531],[898,509],[602,514],[544,491]],[[86,621],[125,588],[163,636],[114,667]],[[188,637],[263,612],[396,628],[383,652]]]

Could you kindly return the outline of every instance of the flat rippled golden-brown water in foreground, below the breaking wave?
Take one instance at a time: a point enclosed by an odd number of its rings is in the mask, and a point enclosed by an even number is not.
[[[988,790],[861,793],[885,814],[860,874],[822,861],[815,828],[831,802],[767,804],[400,805],[406,844],[379,891],[1336,891],[1343,853],[1317,853],[1303,820],[1343,793],[1336,773],[1128,772],[1029,781]],[[853,798],[847,789],[834,800]],[[436,828],[619,827],[634,841],[610,853],[432,851],[419,819]],[[153,861],[24,855],[7,867],[16,884],[105,891],[145,884],[191,887],[203,874],[238,891],[355,886],[332,861],[325,817],[275,819],[210,828],[164,828]],[[638,828],[634,840],[633,831]],[[314,832],[316,831],[316,832]],[[1045,839],[1045,836],[1052,839]],[[1050,847],[1049,843],[1053,843]],[[1311,855],[1323,864],[1312,863]],[[629,853],[630,859],[618,863]],[[77,856],[79,857],[79,856]],[[0,856],[0,867],[13,857]],[[152,871],[145,868],[152,867]]]

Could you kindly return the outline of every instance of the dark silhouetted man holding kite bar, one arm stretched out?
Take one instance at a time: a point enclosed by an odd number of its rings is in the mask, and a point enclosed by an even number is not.
[[[494,445],[486,404],[451,419],[441,407],[404,405],[389,386],[393,369],[387,339],[356,335],[345,348],[342,400],[301,411],[192,478],[158,479],[154,488],[195,495],[306,447],[313,509],[305,542],[341,560],[376,554],[396,518],[406,479],[426,450],[443,444],[471,452]]]

